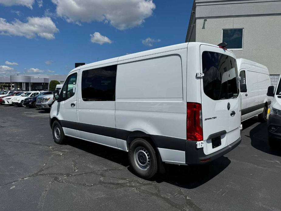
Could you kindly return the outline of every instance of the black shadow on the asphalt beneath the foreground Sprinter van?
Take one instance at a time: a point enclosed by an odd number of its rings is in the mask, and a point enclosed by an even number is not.
[[[89,141],[69,138],[68,145],[86,151],[88,153],[105,158],[109,161],[118,163],[135,174],[129,166],[128,154],[125,151],[102,146]],[[182,188],[193,189],[208,182],[221,173],[231,161],[227,157],[220,157],[217,160],[199,166],[179,166],[166,164],[166,173],[158,174],[152,181],[158,183],[167,182]]]

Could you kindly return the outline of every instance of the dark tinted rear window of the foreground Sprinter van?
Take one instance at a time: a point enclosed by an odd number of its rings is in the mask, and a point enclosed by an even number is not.
[[[204,51],[202,54],[203,89],[213,100],[237,98],[238,71],[236,60],[225,54]]]

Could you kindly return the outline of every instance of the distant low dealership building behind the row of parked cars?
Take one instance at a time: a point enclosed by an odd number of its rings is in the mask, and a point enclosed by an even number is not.
[[[64,83],[67,75],[10,75],[0,77],[0,90],[28,90],[37,91],[49,89],[52,80]]]

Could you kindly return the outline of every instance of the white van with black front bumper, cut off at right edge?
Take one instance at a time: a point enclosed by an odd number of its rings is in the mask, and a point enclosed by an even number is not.
[[[268,125],[268,141],[272,149],[280,147],[281,143],[281,77],[274,94],[274,87],[268,88],[267,95],[273,97],[270,114],[267,121]]]

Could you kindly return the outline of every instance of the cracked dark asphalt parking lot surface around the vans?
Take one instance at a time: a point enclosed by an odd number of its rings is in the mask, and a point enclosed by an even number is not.
[[[0,106],[1,210],[281,210],[281,151],[266,123],[243,123],[241,144],[200,167],[170,165],[143,180],[127,153],[53,141],[49,113]]]

